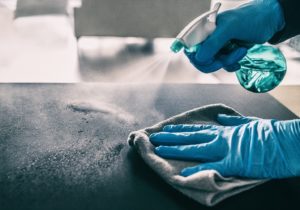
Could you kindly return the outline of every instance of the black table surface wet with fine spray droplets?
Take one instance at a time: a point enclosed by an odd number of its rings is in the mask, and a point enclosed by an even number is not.
[[[1,84],[0,209],[299,209],[299,178],[205,207],[164,183],[126,144],[130,131],[212,103],[296,118],[270,95],[235,85]]]

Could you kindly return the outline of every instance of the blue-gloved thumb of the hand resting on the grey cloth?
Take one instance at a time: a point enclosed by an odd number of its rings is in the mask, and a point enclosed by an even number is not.
[[[223,126],[237,126],[247,124],[253,120],[258,120],[255,117],[232,116],[226,114],[218,114],[217,120]]]

